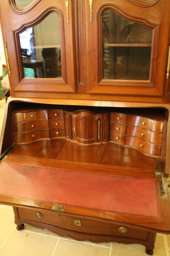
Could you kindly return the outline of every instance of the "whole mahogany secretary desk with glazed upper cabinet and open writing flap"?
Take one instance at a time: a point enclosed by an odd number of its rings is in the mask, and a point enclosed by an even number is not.
[[[0,202],[92,242],[170,233],[165,0],[0,0],[10,94]],[[8,13],[8,15],[7,15]]]

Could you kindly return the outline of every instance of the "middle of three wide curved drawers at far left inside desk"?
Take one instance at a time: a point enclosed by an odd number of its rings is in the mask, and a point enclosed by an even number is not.
[[[14,123],[14,133],[31,132],[40,129],[49,129],[47,120]]]

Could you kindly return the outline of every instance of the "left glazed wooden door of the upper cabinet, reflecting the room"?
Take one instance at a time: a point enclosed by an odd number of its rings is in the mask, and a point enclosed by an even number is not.
[[[12,96],[75,92],[72,1],[0,3]]]

